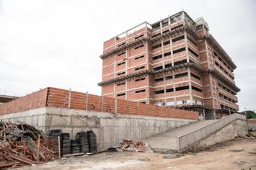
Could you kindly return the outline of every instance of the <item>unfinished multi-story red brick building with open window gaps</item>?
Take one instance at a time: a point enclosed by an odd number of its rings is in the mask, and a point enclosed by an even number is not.
[[[203,18],[179,12],[104,42],[102,96],[196,109],[206,119],[239,109],[237,66]]]

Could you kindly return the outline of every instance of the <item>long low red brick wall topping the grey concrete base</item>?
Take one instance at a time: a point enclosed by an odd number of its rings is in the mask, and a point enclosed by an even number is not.
[[[124,115],[147,115],[198,120],[198,112],[173,107],[159,107],[153,104],[141,104],[124,99],[101,97],[94,94],[85,94],[53,87],[48,87],[25,97],[15,99],[12,102],[2,104],[0,106],[0,115],[22,112],[38,107],[66,107]]]

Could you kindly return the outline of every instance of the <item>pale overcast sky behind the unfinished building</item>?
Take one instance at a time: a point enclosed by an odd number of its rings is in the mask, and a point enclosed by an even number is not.
[[[0,0],[0,94],[47,86],[100,94],[103,42],[182,9],[203,17],[237,64],[240,110],[256,109],[255,0]]]

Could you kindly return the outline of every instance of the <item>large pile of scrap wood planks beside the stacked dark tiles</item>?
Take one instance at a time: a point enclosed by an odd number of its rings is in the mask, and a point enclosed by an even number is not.
[[[0,122],[0,169],[39,164],[54,158],[49,140],[41,130],[23,122]]]

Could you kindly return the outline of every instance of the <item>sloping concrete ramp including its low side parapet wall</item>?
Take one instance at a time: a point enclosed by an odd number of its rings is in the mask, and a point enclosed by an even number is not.
[[[224,128],[224,126],[229,125],[229,123],[234,122],[234,120],[246,120],[246,118],[244,115],[233,114],[221,120],[201,120],[180,128],[167,130],[143,141],[149,143],[154,151],[185,151],[186,148],[203,138],[207,138],[209,135]]]

